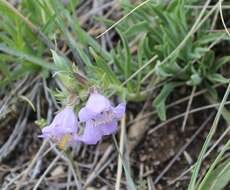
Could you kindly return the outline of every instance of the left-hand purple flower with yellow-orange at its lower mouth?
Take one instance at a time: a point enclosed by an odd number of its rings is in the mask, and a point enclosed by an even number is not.
[[[42,129],[42,135],[39,137],[52,139],[57,143],[64,142],[64,146],[71,142],[71,137],[77,133],[78,120],[71,107],[66,107],[59,112],[52,123]]]

